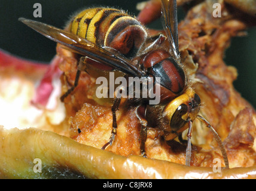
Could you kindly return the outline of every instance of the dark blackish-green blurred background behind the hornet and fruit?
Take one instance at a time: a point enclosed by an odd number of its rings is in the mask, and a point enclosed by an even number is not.
[[[94,6],[115,7],[137,15],[136,4],[140,1],[112,0],[1,0],[0,2],[0,48],[16,56],[48,63],[56,53],[56,43],[29,29],[18,21],[19,17],[42,21],[56,27],[65,26],[69,16]],[[42,5],[42,17],[34,18],[33,4]],[[156,26],[154,26],[156,24]],[[156,21],[151,27],[160,27]],[[256,28],[248,30],[248,36],[236,37],[225,53],[225,62],[235,66],[239,76],[234,87],[256,108]]]

